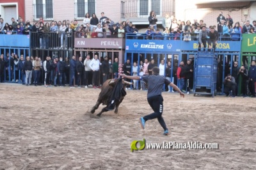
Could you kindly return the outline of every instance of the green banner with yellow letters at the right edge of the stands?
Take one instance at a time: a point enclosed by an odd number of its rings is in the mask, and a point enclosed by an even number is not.
[[[256,34],[242,35],[242,52],[256,52]]]

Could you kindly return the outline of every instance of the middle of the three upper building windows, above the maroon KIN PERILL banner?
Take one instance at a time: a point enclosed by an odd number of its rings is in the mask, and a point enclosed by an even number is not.
[[[92,17],[95,13],[95,0],[75,0],[75,19],[83,19],[85,13]]]

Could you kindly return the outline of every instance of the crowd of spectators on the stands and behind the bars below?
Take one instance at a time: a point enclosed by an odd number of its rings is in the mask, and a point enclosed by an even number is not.
[[[243,26],[239,22],[234,22],[230,15],[223,16],[223,13],[220,12],[220,15],[217,17],[217,26],[210,26],[204,23],[204,20],[200,20],[198,23],[197,20],[194,20],[194,23],[191,23],[190,20],[186,22],[182,20],[177,20],[175,17],[170,16],[168,13],[165,14],[165,17],[162,22],[162,27],[157,23],[157,16],[154,11],[150,12],[148,17],[148,27],[144,33],[140,35],[145,35],[147,39],[156,39],[161,40],[182,40],[191,41],[198,40],[199,49],[206,47],[206,43],[209,44],[209,48],[215,49],[215,45],[219,38],[222,40],[239,40],[241,33],[255,33],[256,31],[256,21],[253,20],[253,23],[250,24],[250,21],[247,20]],[[161,33],[159,28],[163,28],[163,33]],[[12,34],[13,31],[16,31],[19,35],[28,35],[29,32],[38,33],[40,48],[51,47],[52,45],[47,45],[47,38],[45,38],[44,33],[57,33],[58,36],[58,45],[60,48],[68,48],[68,36],[71,33],[74,33],[76,37],[79,38],[123,38],[124,33],[136,34],[138,35],[139,31],[132,22],[129,20],[114,22],[104,15],[104,12],[101,13],[100,19],[97,18],[95,13],[90,17],[89,13],[86,13],[83,24],[78,24],[77,20],[69,21],[63,20],[62,22],[44,22],[44,19],[40,18],[39,22],[34,22],[33,25],[29,21],[26,24],[23,22],[22,18],[15,21],[12,18],[12,24],[4,23],[3,19],[0,19],[0,31],[5,34]],[[183,36],[180,36],[183,33]],[[49,42],[48,42],[49,43]],[[54,42],[52,43],[54,44]],[[56,43],[55,43],[56,44]],[[211,47],[212,44],[212,47]],[[76,56],[73,56],[72,59],[68,58],[51,58],[47,56],[44,63],[42,63],[40,58],[33,57],[24,58],[24,56],[17,56],[17,54],[12,53],[11,56],[7,54],[4,59],[3,54],[0,58],[0,77],[1,82],[3,82],[3,73],[6,72],[6,79],[11,79],[12,81],[18,81],[19,75],[21,77],[22,84],[31,85],[35,84],[44,84],[44,86],[65,86],[68,84],[70,88],[74,88],[74,84],[78,88],[84,86],[93,86],[93,88],[100,88],[100,85],[106,81],[106,79],[111,77],[118,76],[118,58],[115,58],[115,61],[112,63],[111,59],[107,56],[102,59],[100,62],[98,56],[95,55],[92,57],[86,56],[86,59],[79,58],[76,61]],[[10,59],[10,61],[9,61]],[[191,61],[186,61],[186,65],[183,61],[180,61],[178,66],[177,58],[174,59],[175,63],[168,61],[167,65],[164,65],[164,60],[159,63],[159,65],[154,64],[154,59],[148,62],[148,59],[143,59],[141,63],[130,63],[130,60],[127,59],[124,64],[124,73],[127,75],[150,75],[152,68],[154,66],[159,66],[160,73],[163,76],[170,77],[172,81],[177,84],[177,80],[180,80],[180,89],[187,90],[188,94],[193,89],[193,64]],[[220,63],[220,62],[219,62]],[[254,62],[255,63],[255,62]],[[234,63],[236,64],[236,62]],[[172,68],[173,67],[173,68]],[[3,70],[3,69],[6,70]],[[252,61],[253,68],[253,61]],[[237,70],[234,68],[233,70]],[[223,82],[225,83],[225,93],[229,95],[229,91],[232,90],[232,95],[237,95],[237,76],[241,75],[243,77],[242,83],[242,93],[244,96],[247,94],[244,88],[248,87],[248,84],[254,86],[256,79],[254,79],[255,73],[249,70],[242,65],[238,69],[237,73],[234,73],[230,77],[227,75]],[[249,73],[249,74],[248,74]],[[172,75],[172,77],[171,77]],[[39,77],[39,78],[38,78]],[[234,77],[234,79],[232,79]],[[247,77],[247,78],[246,78]],[[44,81],[42,81],[44,80]],[[231,83],[229,82],[235,82]],[[222,82],[222,80],[221,80]],[[247,85],[243,85],[246,82]],[[251,83],[252,82],[252,83]],[[236,84],[236,87],[234,87]],[[227,87],[227,88],[226,88]],[[127,89],[130,86],[127,86]],[[139,88],[141,90],[147,90],[147,84],[143,81],[137,82],[134,81],[132,88]],[[171,87],[166,87],[169,92],[173,92]],[[255,91],[252,95],[255,95]]]

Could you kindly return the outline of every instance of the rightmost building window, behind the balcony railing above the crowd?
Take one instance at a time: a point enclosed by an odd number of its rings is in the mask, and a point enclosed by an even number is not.
[[[140,0],[138,1],[138,15],[148,16],[151,11],[161,15],[161,0]]]

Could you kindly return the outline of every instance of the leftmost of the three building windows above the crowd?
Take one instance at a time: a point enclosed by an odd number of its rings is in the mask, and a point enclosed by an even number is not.
[[[52,0],[33,0],[34,20],[53,19]]]

